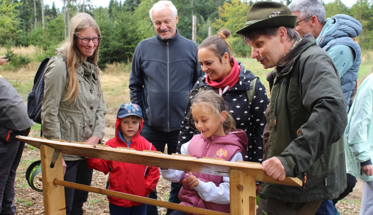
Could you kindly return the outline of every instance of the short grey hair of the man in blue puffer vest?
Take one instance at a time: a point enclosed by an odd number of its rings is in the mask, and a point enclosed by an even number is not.
[[[299,18],[304,19],[315,15],[322,25],[325,25],[325,8],[319,0],[295,0],[287,6],[291,12],[298,12]],[[309,18],[305,19],[308,21]]]

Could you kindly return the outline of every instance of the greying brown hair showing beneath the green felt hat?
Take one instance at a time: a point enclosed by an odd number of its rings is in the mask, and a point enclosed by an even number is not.
[[[242,38],[246,44],[254,41],[260,36],[266,36],[268,38],[276,36],[280,27],[267,27],[267,28],[258,28],[242,34]],[[284,27],[286,29],[286,38],[289,41],[297,41],[300,39],[300,35],[295,29],[290,27]]]

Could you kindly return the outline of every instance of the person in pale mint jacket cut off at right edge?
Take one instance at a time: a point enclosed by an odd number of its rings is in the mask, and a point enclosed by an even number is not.
[[[363,180],[360,215],[373,214],[373,68],[360,84],[345,130],[347,172]]]

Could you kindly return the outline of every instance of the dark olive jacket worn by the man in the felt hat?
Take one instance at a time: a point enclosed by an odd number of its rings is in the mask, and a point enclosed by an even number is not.
[[[263,183],[261,197],[298,203],[334,199],[346,188],[347,113],[338,72],[311,34],[289,54],[270,83],[267,159],[279,158],[286,176],[305,183],[304,188]]]

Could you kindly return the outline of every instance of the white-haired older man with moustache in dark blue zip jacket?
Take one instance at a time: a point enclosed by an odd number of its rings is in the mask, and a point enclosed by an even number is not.
[[[149,15],[157,34],[141,41],[133,54],[130,98],[143,110],[141,135],[157,151],[164,152],[167,144],[171,154],[176,152],[189,91],[202,71],[197,44],[182,37],[176,28],[179,16],[174,4],[169,0],[158,1]],[[179,203],[179,189],[175,186],[178,184],[171,184],[169,201]],[[156,199],[156,193],[151,198]],[[149,214],[158,214],[156,207],[148,206]]]

